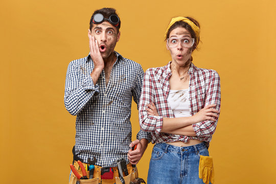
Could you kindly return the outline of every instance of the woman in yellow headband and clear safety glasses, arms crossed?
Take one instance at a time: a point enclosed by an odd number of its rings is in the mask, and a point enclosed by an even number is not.
[[[220,79],[216,71],[192,63],[199,28],[193,18],[173,18],[165,35],[172,61],[145,73],[139,119],[141,129],[152,132],[155,143],[149,184],[203,183],[202,179],[213,183],[212,159],[203,156],[209,156],[220,112]],[[209,169],[205,178],[202,168]]]

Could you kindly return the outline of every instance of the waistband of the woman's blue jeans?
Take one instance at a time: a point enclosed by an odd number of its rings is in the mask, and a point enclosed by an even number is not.
[[[203,141],[202,143],[193,145],[193,146],[173,146],[173,145],[169,145],[167,143],[157,143],[154,145],[154,147],[158,147],[160,149],[165,150],[165,152],[167,151],[171,151],[171,152],[176,152],[176,153],[197,153],[200,150],[203,149],[208,149],[208,147],[206,146],[206,143]]]

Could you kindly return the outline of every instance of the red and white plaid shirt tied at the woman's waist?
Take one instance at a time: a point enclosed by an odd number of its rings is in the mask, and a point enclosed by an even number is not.
[[[193,116],[204,106],[217,104],[220,110],[220,78],[216,71],[196,67],[191,64],[190,75],[190,115]],[[160,132],[163,125],[163,117],[175,118],[173,111],[167,102],[170,91],[169,78],[171,76],[170,62],[163,67],[149,68],[144,77],[142,94],[139,104],[139,120],[141,129],[151,132],[152,143],[166,143],[182,141],[187,143],[189,139],[195,139],[210,143],[216,130],[217,121],[202,121],[193,124],[197,136],[174,135]],[[147,104],[153,102],[159,116],[147,114]]]

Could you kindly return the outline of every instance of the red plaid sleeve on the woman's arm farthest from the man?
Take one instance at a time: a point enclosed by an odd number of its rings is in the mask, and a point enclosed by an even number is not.
[[[213,71],[212,78],[210,80],[208,90],[206,91],[206,98],[204,106],[216,104],[216,109],[220,111],[220,78],[216,71]],[[193,124],[193,129],[198,137],[202,140],[208,141],[214,134],[218,118],[214,117],[216,121],[202,121]]]

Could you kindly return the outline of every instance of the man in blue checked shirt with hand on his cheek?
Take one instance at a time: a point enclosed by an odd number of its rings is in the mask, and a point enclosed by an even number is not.
[[[96,10],[88,30],[90,53],[70,62],[66,74],[64,104],[77,115],[74,165],[78,167],[77,159],[88,163],[88,158],[96,157],[94,173],[101,167],[117,171],[119,157],[137,164],[150,141],[149,134],[140,130],[137,140],[131,142],[131,102],[133,97],[139,104],[144,71],[140,64],[114,51],[120,26],[116,10]],[[134,145],[137,148],[130,150]],[[115,182],[114,177],[100,178],[102,183]],[[76,180],[71,174],[70,183]]]

